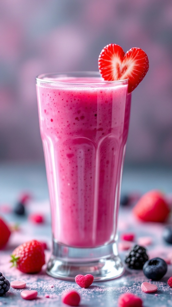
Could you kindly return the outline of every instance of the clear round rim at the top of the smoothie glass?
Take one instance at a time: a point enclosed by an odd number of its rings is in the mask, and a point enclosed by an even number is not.
[[[73,79],[73,82],[67,82],[65,80],[50,80],[48,78],[58,78],[58,77],[92,77],[92,78],[102,78],[100,75],[100,72],[98,71],[74,71],[74,72],[52,72],[52,73],[45,73],[45,74],[40,74],[36,76],[36,81],[42,82],[42,83],[54,83],[54,84],[118,84],[118,83],[128,83],[129,79],[121,79],[121,80],[103,80],[103,78],[100,81],[81,81],[81,82],[76,82]],[[46,79],[47,78],[47,79]]]

